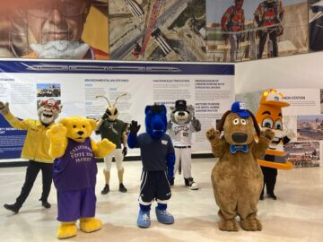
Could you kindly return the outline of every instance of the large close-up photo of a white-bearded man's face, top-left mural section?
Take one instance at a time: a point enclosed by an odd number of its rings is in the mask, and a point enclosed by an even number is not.
[[[0,56],[109,58],[108,0],[30,0],[9,6],[0,10]]]

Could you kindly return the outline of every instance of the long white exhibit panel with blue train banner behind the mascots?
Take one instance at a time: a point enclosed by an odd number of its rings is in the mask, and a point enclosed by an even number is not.
[[[99,120],[107,101],[97,96],[114,101],[127,93],[118,99],[119,118],[126,123],[138,121],[144,132],[146,105],[170,107],[177,99],[186,99],[195,107],[202,125],[202,132],[193,137],[192,151],[197,153],[209,152],[204,131],[215,125],[215,119],[230,108],[234,99],[234,65],[3,61],[0,68],[0,99],[9,102],[13,115],[20,119],[37,117],[39,102],[52,98],[63,105],[60,118]],[[17,159],[25,133],[0,118],[0,159]],[[92,137],[100,139],[100,135]]]

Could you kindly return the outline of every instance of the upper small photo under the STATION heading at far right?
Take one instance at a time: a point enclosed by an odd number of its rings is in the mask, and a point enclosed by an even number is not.
[[[297,140],[323,140],[323,115],[298,116]]]

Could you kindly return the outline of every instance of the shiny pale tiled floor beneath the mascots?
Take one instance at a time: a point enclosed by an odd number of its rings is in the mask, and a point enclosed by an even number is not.
[[[100,194],[103,186],[103,166],[100,163],[97,217],[103,221],[103,228],[92,234],[78,231],[76,237],[65,241],[323,241],[323,168],[279,170],[275,189],[278,199],[273,201],[266,198],[258,203],[258,217],[262,220],[263,230],[224,232],[216,224],[219,220],[218,208],[210,179],[213,167],[214,159],[194,160],[193,174],[200,186],[198,191],[184,187],[181,177],[176,179],[169,204],[169,211],[175,217],[173,225],[158,223],[152,210],[151,228],[138,229],[135,221],[141,163],[125,162],[127,194],[118,192],[117,170],[113,164],[112,191],[107,195]],[[13,215],[2,207],[4,203],[15,201],[22,187],[24,173],[25,168],[0,169],[0,241],[57,241],[56,191],[52,186],[49,197],[52,208],[43,209],[38,201],[41,176],[19,214]]]

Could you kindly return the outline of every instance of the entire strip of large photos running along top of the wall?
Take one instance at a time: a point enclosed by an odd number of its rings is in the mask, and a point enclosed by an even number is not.
[[[241,62],[323,49],[323,0],[17,0],[0,57]]]

